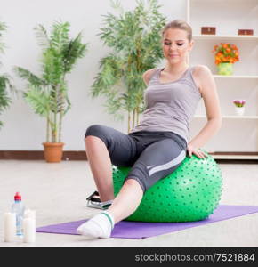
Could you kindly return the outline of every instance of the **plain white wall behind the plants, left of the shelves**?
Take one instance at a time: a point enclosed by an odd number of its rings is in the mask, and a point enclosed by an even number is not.
[[[121,0],[123,7],[133,9],[135,1]],[[168,20],[186,18],[186,3],[182,0],[160,0],[161,12]],[[69,98],[72,108],[64,117],[62,141],[64,150],[84,150],[83,136],[89,125],[104,124],[126,133],[126,121],[117,122],[105,112],[104,98],[92,99],[89,90],[93,85],[99,61],[109,53],[99,36],[101,15],[114,12],[109,0],[3,0],[1,1],[0,21],[8,30],[4,42],[8,48],[1,56],[4,71],[12,74],[13,83],[24,89],[24,82],[12,72],[13,66],[21,66],[38,73],[40,49],[36,44],[33,28],[43,24],[49,28],[54,20],[69,21],[71,35],[85,30],[84,41],[89,43],[88,52],[83,60],[69,75]],[[44,118],[34,114],[28,104],[20,97],[14,98],[10,109],[1,116],[4,127],[0,130],[0,150],[42,150],[45,139]]]

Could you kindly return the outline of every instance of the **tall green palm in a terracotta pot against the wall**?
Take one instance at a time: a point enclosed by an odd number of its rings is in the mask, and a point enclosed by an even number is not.
[[[70,109],[66,76],[78,59],[84,57],[87,44],[82,43],[82,32],[69,38],[69,22],[54,22],[50,35],[43,25],[35,28],[42,47],[41,76],[28,69],[14,67],[19,77],[27,81],[24,98],[32,109],[46,119],[44,158],[60,162],[62,157],[62,119]]]

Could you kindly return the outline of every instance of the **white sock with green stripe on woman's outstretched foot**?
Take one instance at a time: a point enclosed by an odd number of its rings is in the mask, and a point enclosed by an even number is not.
[[[77,233],[89,238],[107,239],[114,228],[114,219],[108,212],[96,214],[92,219],[81,224],[77,228]]]

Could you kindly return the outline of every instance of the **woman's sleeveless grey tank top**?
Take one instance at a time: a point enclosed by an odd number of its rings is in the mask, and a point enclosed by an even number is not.
[[[189,122],[201,99],[198,86],[192,77],[193,68],[189,67],[181,78],[169,83],[160,82],[160,72],[163,69],[154,71],[144,92],[145,110],[141,122],[130,133],[173,132],[188,142]]]

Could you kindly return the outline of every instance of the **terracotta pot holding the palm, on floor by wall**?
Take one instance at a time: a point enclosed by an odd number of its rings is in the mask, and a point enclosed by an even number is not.
[[[43,142],[44,159],[46,162],[60,162],[62,158],[63,142]]]

